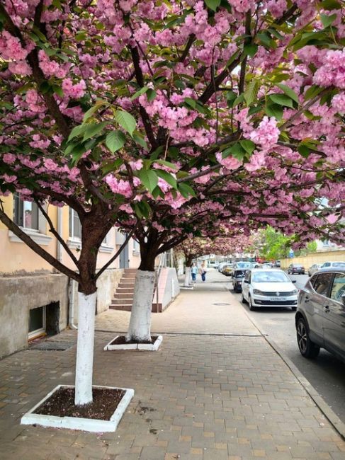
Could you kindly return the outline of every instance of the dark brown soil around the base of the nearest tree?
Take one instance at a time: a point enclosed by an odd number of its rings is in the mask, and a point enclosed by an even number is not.
[[[92,403],[75,406],[74,388],[61,387],[35,410],[35,414],[110,420],[124,394],[123,390],[95,388]]]

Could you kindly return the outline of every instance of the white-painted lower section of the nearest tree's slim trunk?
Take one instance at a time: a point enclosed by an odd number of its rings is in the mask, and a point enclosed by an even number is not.
[[[84,406],[92,402],[96,298],[96,292],[90,295],[78,292],[78,340],[74,398],[76,406]]]

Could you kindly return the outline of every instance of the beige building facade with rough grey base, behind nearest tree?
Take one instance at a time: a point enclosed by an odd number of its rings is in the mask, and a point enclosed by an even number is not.
[[[15,195],[2,197],[4,211],[45,251],[72,270],[75,266],[49,231],[34,203]],[[49,205],[46,211],[55,229],[78,258],[80,222],[73,209]],[[113,228],[98,252],[97,268],[110,260],[125,241]],[[97,312],[108,309],[124,268],[137,268],[140,248],[132,239],[98,280]],[[28,347],[30,339],[53,335],[77,323],[77,283],[57,273],[0,222],[0,357]]]

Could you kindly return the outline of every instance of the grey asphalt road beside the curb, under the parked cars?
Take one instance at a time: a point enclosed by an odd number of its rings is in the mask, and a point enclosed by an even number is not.
[[[296,287],[304,286],[307,275],[290,275],[296,280]],[[241,294],[234,294],[240,300]],[[321,349],[315,360],[307,360],[300,355],[295,333],[295,312],[291,309],[260,309],[250,311],[247,304],[243,308],[262,333],[268,334],[285,352],[310,384],[324,398],[334,413],[345,422],[345,364],[326,350]]]

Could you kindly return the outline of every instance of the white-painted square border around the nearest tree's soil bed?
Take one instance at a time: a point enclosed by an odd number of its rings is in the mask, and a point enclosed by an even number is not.
[[[39,403],[37,403],[31,410],[21,418],[21,425],[41,425],[43,427],[55,427],[55,428],[68,428],[69,430],[84,430],[89,432],[114,432],[120,422],[125,410],[128,407],[132,397],[134,396],[134,390],[128,388],[118,388],[115,386],[98,386],[94,385],[93,388],[100,389],[113,389],[123,390],[123,395],[118,407],[111,416],[110,420],[99,420],[95,418],[80,418],[80,417],[58,417],[57,415],[44,415],[35,414],[35,410],[38,409],[55,391],[64,388],[74,388],[72,385],[58,385],[50,391]]]

